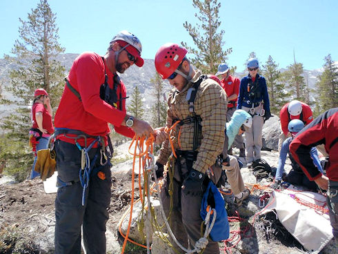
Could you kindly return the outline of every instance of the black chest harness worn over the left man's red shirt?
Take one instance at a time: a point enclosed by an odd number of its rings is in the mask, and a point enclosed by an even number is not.
[[[101,57],[103,64],[104,64],[104,57]],[[114,108],[117,108],[117,102],[119,101],[119,110],[122,110],[122,100],[127,99],[129,97],[123,97],[121,93],[121,79],[117,73],[114,73],[114,82],[112,85],[112,89],[109,87],[108,84],[108,75],[106,73],[106,68],[104,69],[104,83],[100,86],[100,98],[103,99],[103,101],[106,101],[108,104],[113,106]],[[65,78],[67,87],[74,93],[74,95],[81,101],[81,95],[75,88],[70,84],[67,78]],[[120,92],[119,92],[119,98],[117,97],[117,87],[120,86]]]

